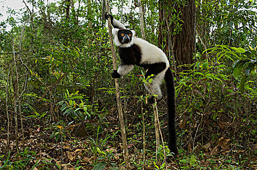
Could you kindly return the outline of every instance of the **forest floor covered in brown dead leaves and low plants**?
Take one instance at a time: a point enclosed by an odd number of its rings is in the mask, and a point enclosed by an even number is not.
[[[90,123],[81,122],[65,127],[51,124],[49,120],[47,122],[35,118],[25,119],[23,124],[24,141],[22,134],[19,133],[17,150],[15,129],[13,128],[7,153],[7,121],[5,118],[0,125],[1,170],[125,169],[120,131],[118,131],[118,122],[115,117],[109,117],[101,123],[91,120]],[[102,132],[101,128],[104,129]],[[145,164],[143,164],[142,136],[137,135],[135,127],[128,128],[134,131],[128,132],[128,136],[133,136],[128,141],[132,169],[165,169],[163,150],[159,151],[157,160],[154,146],[150,144],[146,145]],[[78,133],[84,137],[73,137],[78,136]],[[153,134],[147,140],[154,141],[154,130],[147,133]],[[221,143],[221,145],[225,144]],[[235,147],[231,149],[230,147],[230,149],[219,150],[219,152],[217,150],[214,153],[210,152],[207,147],[202,151],[196,148],[191,153],[180,149],[178,157],[167,157],[166,168],[170,170],[257,170],[257,155],[249,157],[248,151],[245,149]]]

